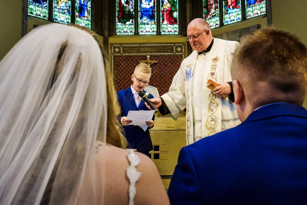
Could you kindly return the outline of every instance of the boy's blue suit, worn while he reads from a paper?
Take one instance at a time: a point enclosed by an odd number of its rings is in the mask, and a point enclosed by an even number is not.
[[[145,90],[143,90],[143,92],[146,93]],[[148,98],[151,99],[153,96],[150,94]],[[118,91],[117,99],[121,107],[121,113],[118,120],[120,120],[122,116],[127,116],[130,110],[149,110],[143,100],[140,102],[138,108],[136,107],[131,87],[126,90]],[[154,115],[152,119],[154,120]],[[134,148],[136,145],[140,152],[149,152],[153,150],[148,128],[145,132],[141,127],[135,125],[126,125],[123,126],[123,128],[131,148]]]

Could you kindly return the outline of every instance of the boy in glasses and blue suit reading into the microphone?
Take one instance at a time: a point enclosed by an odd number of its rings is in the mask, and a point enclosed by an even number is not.
[[[133,85],[126,90],[117,92],[117,98],[121,107],[121,113],[118,117],[119,122],[124,125],[124,131],[126,139],[131,148],[137,149],[138,152],[142,152],[149,156],[149,151],[153,150],[153,144],[150,139],[149,129],[153,127],[154,116],[152,120],[146,121],[148,128],[144,130],[135,125],[129,125],[132,120],[129,120],[126,116],[130,110],[149,110],[142,98],[139,97],[138,92],[143,91],[149,99],[153,98],[151,94],[147,94],[143,90],[146,85],[149,85],[151,76],[151,68],[146,63],[139,63],[134,73],[131,75]]]

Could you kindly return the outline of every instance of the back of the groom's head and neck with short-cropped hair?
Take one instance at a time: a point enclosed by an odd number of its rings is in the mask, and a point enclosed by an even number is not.
[[[231,76],[241,121],[266,104],[302,105],[307,89],[306,46],[285,30],[255,31],[235,50]]]

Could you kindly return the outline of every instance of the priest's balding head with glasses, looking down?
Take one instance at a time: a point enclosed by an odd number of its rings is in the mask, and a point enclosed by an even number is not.
[[[212,41],[209,24],[202,18],[195,18],[188,24],[187,40],[198,52],[206,50]]]

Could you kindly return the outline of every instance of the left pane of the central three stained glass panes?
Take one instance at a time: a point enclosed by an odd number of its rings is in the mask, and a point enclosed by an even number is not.
[[[134,0],[117,0],[116,33],[118,35],[134,34]]]

